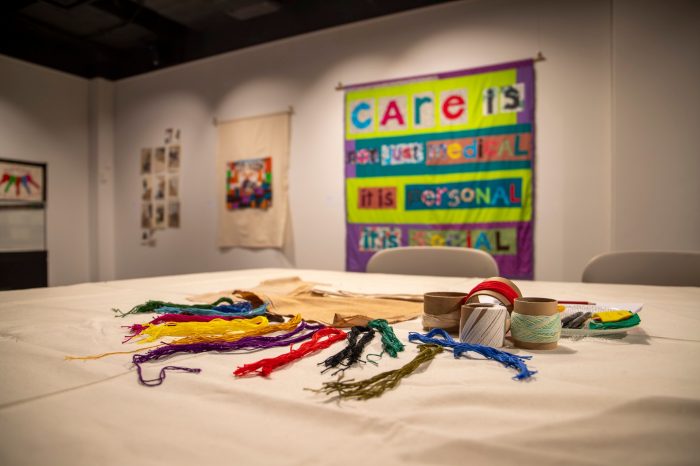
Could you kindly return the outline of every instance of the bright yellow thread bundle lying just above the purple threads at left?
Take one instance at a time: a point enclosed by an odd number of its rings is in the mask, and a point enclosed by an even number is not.
[[[165,322],[148,325],[139,335],[146,338],[139,343],[150,343],[162,337],[194,336],[194,335],[226,335],[264,328],[269,325],[267,317],[258,316],[252,319],[213,319],[209,322]]]

